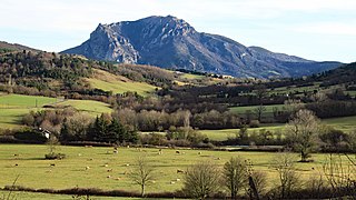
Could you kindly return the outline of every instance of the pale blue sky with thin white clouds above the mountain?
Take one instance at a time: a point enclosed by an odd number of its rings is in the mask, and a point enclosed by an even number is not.
[[[98,23],[175,16],[196,30],[312,60],[356,61],[356,0],[0,0],[0,40],[61,51]]]

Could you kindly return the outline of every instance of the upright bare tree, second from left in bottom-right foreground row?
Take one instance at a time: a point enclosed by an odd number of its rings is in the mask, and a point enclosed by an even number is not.
[[[247,183],[246,162],[239,158],[231,158],[224,164],[224,184],[229,189],[231,198],[237,199],[237,193]]]

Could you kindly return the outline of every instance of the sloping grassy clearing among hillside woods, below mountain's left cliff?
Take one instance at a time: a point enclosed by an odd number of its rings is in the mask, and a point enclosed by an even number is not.
[[[112,91],[113,93],[123,93],[127,91],[137,92],[140,96],[147,97],[155,92],[155,86],[146,82],[137,82],[121,76],[95,70],[93,78],[86,79],[92,88],[98,88],[105,91]]]

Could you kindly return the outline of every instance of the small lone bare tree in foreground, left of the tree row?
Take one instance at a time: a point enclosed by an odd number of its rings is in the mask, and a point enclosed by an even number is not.
[[[129,177],[134,181],[135,184],[140,186],[141,188],[141,197],[145,196],[145,189],[149,186],[155,179],[154,168],[149,164],[146,157],[138,157],[136,160],[136,166],[134,170],[129,173]]]

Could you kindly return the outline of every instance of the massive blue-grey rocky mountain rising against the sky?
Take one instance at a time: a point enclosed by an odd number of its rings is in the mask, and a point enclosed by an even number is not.
[[[298,77],[340,66],[245,47],[222,36],[197,32],[171,16],[99,24],[89,40],[63,53],[255,78]]]

